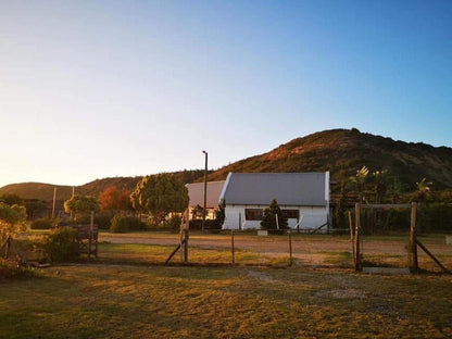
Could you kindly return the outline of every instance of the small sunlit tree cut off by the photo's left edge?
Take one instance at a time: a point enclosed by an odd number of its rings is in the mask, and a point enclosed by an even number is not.
[[[17,204],[10,206],[0,202],[0,242],[21,230],[25,230],[26,217],[27,212],[24,206]]]

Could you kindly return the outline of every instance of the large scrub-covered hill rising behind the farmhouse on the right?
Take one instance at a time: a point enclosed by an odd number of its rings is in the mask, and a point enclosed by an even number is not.
[[[357,129],[331,129],[293,139],[278,148],[251,156],[211,175],[225,179],[229,172],[324,172],[342,181],[366,165],[372,172],[387,170],[415,188],[426,177],[436,189],[452,187],[452,149],[425,143],[395,141],[360,133]]]

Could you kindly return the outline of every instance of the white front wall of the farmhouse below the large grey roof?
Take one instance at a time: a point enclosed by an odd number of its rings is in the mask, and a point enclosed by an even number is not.
[[[261,228],[260,221],[246,221],[244,209],[265,209],[267,206],[262,205],[228,205],[225,208],[225,222],[223,223],[223,229],[241,229]],[[328,221],[328,209],[326,206],[280,206],[281,210],[299,210],[300,217],[303,215],[303,219],[300,225],[300,229],[303,228],[317,228]],[[239,221],[240,218],[240,221]],[[289,219],[289,227],[294,228],[297,219]]]

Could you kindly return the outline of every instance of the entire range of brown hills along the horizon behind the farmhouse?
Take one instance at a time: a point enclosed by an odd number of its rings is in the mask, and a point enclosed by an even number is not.
[[[340,183],[353,176],[359,168],[371,172],[387,170],[405,184],[409,190],[415,183],[427,178],[434,189],[452,188],[452,148],[432,147],[422,142],[404,142],[357,129],[331,129],[293,139],[278,148],[254,155],[209,173],[209,180],[223,180],[229,172],[324,172],[331,173],[331,180]],[[183,183],[203,180],[203,171],[173,173]],[[141,177],[115,177],[97,179],[75,187],[76,193],[98,196],[109,186],[134,189]],[[25,183],[0,188],[0,196],[14,193],[25,199],[50,201],[53,185]],[[66,200],[72,187],[58,186],[58,199]]]

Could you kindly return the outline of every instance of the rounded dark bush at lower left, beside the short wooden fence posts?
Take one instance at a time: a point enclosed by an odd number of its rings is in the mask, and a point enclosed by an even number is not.
[[[71,262],[79,256],[76,230],[72,227],[60,227],[45,239],[45,255],[52,262]]]

